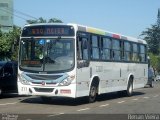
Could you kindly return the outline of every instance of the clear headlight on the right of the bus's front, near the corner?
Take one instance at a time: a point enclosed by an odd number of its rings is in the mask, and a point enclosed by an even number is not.
[[[75,75],[68,76],[66,79],[59,83],[59,86],[68,86],[75,79]]]

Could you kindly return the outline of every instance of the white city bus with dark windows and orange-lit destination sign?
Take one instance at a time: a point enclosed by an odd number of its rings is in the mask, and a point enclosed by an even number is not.
[[[20,38],[18,92],[78,98],[144,87],[146,41],[78,24],[26,25]]]

